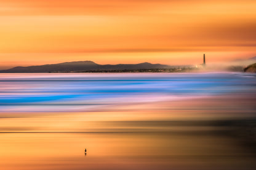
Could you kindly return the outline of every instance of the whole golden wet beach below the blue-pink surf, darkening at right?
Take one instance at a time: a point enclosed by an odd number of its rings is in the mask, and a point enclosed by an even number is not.
[[[255,168],[255,119],[96,121],[98,114],[1,118],[1,169]]]

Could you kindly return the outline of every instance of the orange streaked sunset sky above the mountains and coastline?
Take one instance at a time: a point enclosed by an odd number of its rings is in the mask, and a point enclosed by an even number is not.
[[[256,56],[255,0],[0,0],[0,69]]]

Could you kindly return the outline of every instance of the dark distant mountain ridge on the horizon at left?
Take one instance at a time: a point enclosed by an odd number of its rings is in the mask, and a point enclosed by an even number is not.
[[[40,66],[18,66],[11,69],[1,70],[2,73],[33,73],[33,72],[81,72],[81,71],[111,71],[111,70],[134,70],[134,69],[168,69],[164,64],[97,64],[94,61],[73,61],[58,64],[45,64]]]

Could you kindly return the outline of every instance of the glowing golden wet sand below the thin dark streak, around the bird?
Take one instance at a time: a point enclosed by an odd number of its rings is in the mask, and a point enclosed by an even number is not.
[[[218,133],[15,133],[1,148],[4,169],[255,168],[249,148]]]

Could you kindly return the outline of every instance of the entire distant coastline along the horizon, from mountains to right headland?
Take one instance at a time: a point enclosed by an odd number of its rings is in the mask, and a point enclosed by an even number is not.
[[[254,60],[253,60],[254,61]],[[218,66],[217,66],[218,67]],[[252,67],[252,66],[250,66]],[[255,69],[246,69],[246,66],[225,66],[217,69],[205,64],[170,66],[166,64],[97,64],[93,61],[73,61],[58,64],[44,64],[39,66],[18,66],[1,70],[0,73],[76,73],[76,72],[199,72],[199,71],[231,71],[254,72]]]

